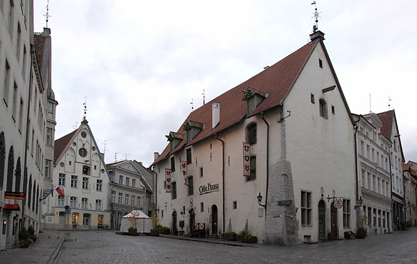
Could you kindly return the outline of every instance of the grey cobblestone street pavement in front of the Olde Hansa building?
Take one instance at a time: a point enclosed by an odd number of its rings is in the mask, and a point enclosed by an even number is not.
[[[74,231],[58,263],[417,263],[417,227],[296,247],[234,247],[114,231]]]

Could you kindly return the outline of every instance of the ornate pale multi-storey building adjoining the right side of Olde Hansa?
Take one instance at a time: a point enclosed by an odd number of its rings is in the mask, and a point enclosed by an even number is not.
[[[391,233],[391,140],[382,134],[382,122],[374,114],[356,115],[359,197],[358,225],[368,234]]]

